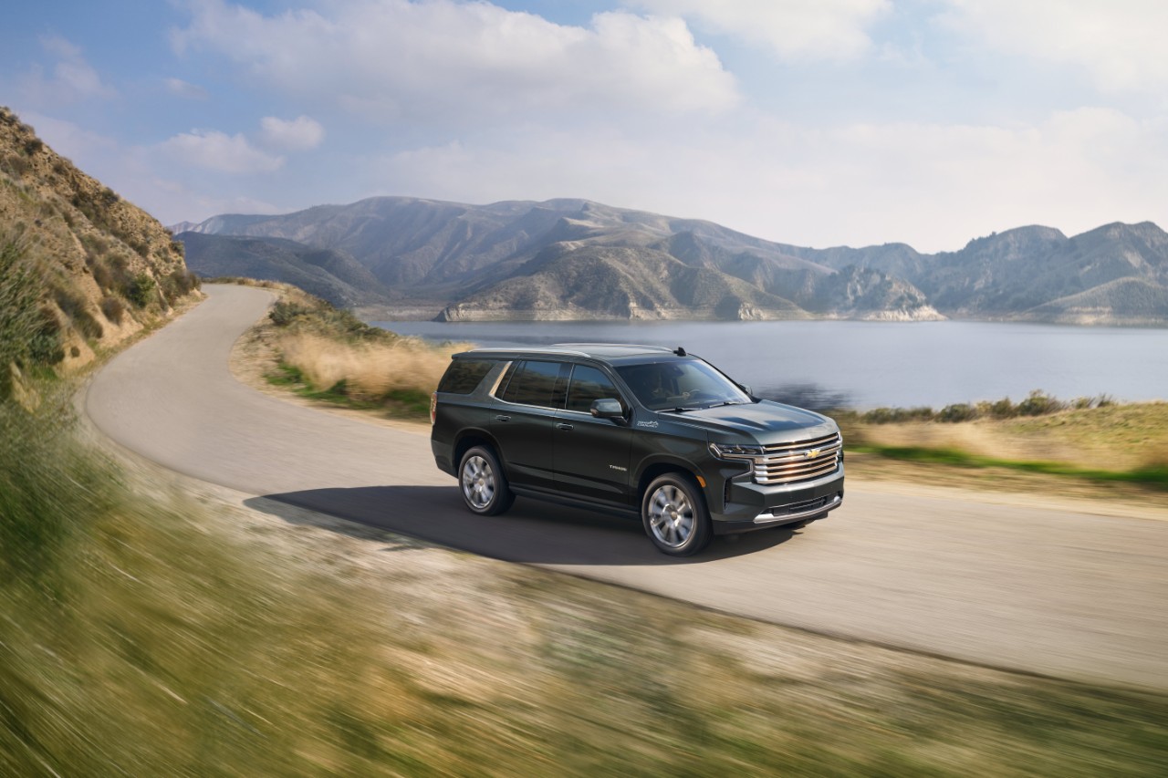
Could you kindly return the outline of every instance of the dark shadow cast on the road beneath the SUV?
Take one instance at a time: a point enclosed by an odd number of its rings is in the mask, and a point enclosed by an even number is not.
[[[753,554],[798,534],[798,530],[779,527],[737,537],[715,537],[701,554],[675,558],[658,551],[633,517],[523,498],[501,516],[477,516],[463,505],[454,486],[305,489],[250,498],[244,505],[292,523],[311,523],[356,537],[376,537],[373,530],[387,530],[482,556],[531,564],[695,564]],[[345,521],[329,521],[299,508]]]

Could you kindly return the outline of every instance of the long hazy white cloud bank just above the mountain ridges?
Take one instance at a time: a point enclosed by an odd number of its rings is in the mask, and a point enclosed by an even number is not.
[[[540,130],[389,154],[353,178],[364,182],[357,196],[579,196],[800,245],[898,241],[941,251],[1023,224],[1075,234],[1162,222],[1148,203],[1168,202],[1166,131],[1163,120],[1110,109],[1006,127],[762,119],[652,140],[619,128],[589,138]]]

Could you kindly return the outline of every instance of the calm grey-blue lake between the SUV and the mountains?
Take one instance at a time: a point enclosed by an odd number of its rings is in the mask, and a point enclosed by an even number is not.
[[[1168,329],[981,321],[371,322],[430,341],[683,346],[758,394],[855,408],[1000,400],[1168,398]]]

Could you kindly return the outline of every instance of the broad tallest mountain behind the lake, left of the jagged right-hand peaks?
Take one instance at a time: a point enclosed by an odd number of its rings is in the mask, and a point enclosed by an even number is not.
[[[182,239],[274,237],[342,251],[397,292],[396,305],[437,300],[430,315],[444,319],[940,318],[911,284],[892,279],[895,293],[841,284],[788,246],[585,200],[373,197],[183,227]]]

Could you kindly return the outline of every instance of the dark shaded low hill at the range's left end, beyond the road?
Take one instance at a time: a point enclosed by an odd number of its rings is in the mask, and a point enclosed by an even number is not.
[[[345,251],[315,249],[285,238],[180,232],[187,266],[204,278],[244,276],[284,282],[338,307],[392,303],[396,297]]]

